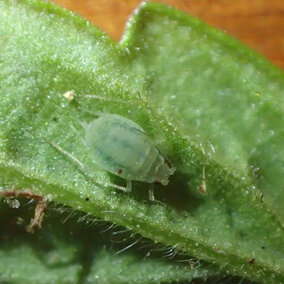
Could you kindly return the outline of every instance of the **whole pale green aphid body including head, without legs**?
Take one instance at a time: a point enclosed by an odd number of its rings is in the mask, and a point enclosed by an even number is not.
[[[135,122],[101,114],[84,128],[85,144],[99,167],[128,181],[168,184],[175,169]]]

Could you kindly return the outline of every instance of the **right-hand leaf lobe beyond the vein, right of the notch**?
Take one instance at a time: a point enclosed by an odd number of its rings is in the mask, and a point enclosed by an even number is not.
[[[212,159],[260,189],[284,224],[283,72],[164,6],[148,4],[130,27],[123,43],[135,54],[134,67],[146,67],[151,104],[171,114]]]

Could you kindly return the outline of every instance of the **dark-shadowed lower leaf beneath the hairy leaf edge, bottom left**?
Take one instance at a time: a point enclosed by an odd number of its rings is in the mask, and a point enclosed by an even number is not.
[[[30,217],[26,206],[15,210],[1,202],[0,217],[5,232],[0,235],[0,280],[5,283],[164,283],[206,278],[217,272],[203,263],[190,269],[188,261],[162,260],[154,250],[146,257],[142,246],[116,254],[133,242],[127,233],[119,228],[109,230],[109,224],[95,226],[96,221],[83,214],[70,217],[67,208],[49,210],[36,235],[25,232]]]

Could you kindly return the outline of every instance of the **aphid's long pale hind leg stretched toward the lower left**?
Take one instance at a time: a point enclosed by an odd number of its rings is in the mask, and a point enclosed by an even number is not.
[[[88,168],[79,160],[77,159],[75,156],[73,156],[71,153],[67,152],[66,150],[64,150],[63,148],[61,148],[59,145],[57,145],[55,142],[53,141],[47,141],[53,148],[55,148],[59,153],[61,153],[62,155],[68,157],[73,163],[77,164],[80,168],[81,171],[83,171],[84,173],[89,172]],[[130,192],[131,191],[131,181],[130,182],[130,190],[128,188],[128,183],[127,183],[127,187],[123,187],[123,186],[119,186],[113,183],[109,183],[109,182],[100,182],[98,180],[95,180],[94,178],[92,178],[90,175],[87,175],[88,178],[90,178],[92,181],[94,181],[96,184],[101,185],[103,187],[109,186],[109,187],[113,187],[119,190],[122,190],[124,192]]]

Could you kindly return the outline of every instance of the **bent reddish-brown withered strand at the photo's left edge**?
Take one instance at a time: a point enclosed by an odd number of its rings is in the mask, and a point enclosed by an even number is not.
[[[42,195],[35,194],[31,190],[15,190],[14,188],[0,192],[0,197],[17,198],[25,197],[36,201],[34,217],[31,219],[30,224],[26,227],[28,233],[34,233],[35,228],[41,228],[43,216],[47,207],[47,199]],[[20,204],[20,203],[18,203]]]

